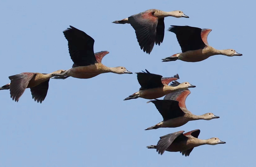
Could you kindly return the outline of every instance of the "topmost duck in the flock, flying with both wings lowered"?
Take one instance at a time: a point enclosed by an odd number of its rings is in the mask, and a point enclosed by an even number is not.
[[[164,40],[164,17],[167,16],[189,18],[182,11],[165,12],[158,9],[149,9],[126,19],[116,20],[112,23],[131,24],[135,30],[141,49],[150,54],[154,43],[160,45]]]

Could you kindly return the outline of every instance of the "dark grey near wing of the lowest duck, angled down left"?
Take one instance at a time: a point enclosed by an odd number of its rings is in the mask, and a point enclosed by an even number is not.
[[[160,137],[160,140],[158,141],[157,145],[156,145],[156,152],[158,152],[158,154],[161,153],[161,155],[164,153],[164,151],[172,144],[172,142],[178,137],[180,136],[180,138],[187,138],[183,135],[185,131],[178,131],[178,132],[174,132],[168,135],[164,135],[162,137]]]

